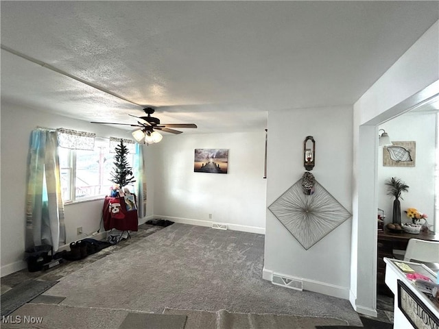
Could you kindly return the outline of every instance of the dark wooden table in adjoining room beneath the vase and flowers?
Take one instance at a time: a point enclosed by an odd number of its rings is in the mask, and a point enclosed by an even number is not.
[[[410,233],[394,233],[387,229],[383,232],[378,232],[378,259],[377,259],[377,289],[379,293],[386,295],[390,294],[390,290],[385,285],[385,262],[384,257],[397,258],[393,254],[393,250],[405,250],[410,239],[421,239],[428,241],[439,241],[439,234],[433,232],[420,232],[419,234]]]

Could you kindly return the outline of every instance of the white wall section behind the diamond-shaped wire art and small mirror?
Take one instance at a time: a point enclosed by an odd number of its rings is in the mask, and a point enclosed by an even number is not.
[[[303,141],[316,141],[316,167],[311,171],[351,212],[351,107],[272,111],[268,115],[267,206],[300,180]],[[305,250],[267,210],[264,278],[276,272],[303,280],[303,289],[348,298],[351,219]]]

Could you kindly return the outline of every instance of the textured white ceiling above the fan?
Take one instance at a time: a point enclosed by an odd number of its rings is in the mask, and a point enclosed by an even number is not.
[[[351,105],[439,12],[437,1],[0,5],[3,47],[129,100],[2,49],[2,101],[123,123],[153,106],[162,122],[198,132],[261,129],[269,110]]]

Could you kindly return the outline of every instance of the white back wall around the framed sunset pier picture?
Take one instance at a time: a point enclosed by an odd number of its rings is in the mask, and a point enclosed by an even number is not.
[[[194,173],[195,149],[228,149],[228,173]],[[234,230],[264,233],[264,149],[264,131],[164,139],[154,156],[154,215],[203,226],[227,223]]]

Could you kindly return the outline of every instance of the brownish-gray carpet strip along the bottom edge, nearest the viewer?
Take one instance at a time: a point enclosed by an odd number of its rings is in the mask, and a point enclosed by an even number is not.
[[[327,317],[229,313],[226,310],[165,309],[163,314],[84,308],[59,304],[25,304],[1,324],[3,329],[315,329],[348,328],[346,321]],[[23,321],[25,317],[33,323]],[[331,327],[326,327],[331,326]],[[335,327],[332,327],[335,326]],[[340,327],[338,327],[340,326]]]

